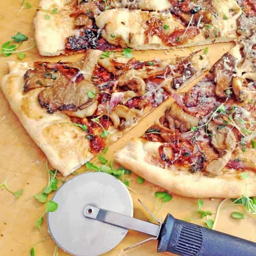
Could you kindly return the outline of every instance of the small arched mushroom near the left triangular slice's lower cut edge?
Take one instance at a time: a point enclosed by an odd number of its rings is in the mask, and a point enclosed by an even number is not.
[[[122,126],[119,127],[120,130],[124,130],[125,128],[130,126],[134,121],[135,116],[135,113],[124,105],[117,105],[112,113],[109,115],[115,128],[117,128],[121,124],[120,118],[125,119],[125,121],[122,121]]]

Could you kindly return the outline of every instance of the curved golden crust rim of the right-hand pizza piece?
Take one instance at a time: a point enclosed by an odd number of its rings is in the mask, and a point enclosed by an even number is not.
[[[157,145],[158,146],[158,145]],[[157,147],[158,148],[158,147]],[[236,172],[215,177],[203,176],[201,172],[164,169],[149,162],[150,150],[145,150],[143,139],[132,139],[126,147],[115,153],[119,164],[146,180],[184,197],[238,198],[245,194],[245,180],[238,179]],[[248,171],[248,196],[256,195],[256,174]]]

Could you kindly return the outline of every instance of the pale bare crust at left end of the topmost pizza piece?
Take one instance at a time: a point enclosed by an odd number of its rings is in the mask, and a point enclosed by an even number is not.
[[[70,17],[72,8],[67,5],[71,0],[41,0],[34,19],[35,42],[43,56],[58,56],[65,53],[65,41],[75,34],[74,18]],[[58,13],[51,14],[54,8]],[[41,9],[48,10],[45,12]],[[50,19],[46,19],[48,14]]]

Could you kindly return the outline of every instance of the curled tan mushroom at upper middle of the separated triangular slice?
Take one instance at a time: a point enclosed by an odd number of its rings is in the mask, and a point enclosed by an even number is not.
[[[139,96],[142,96],[146,90],[146,83],[143,80],[147,76],[145,69],[134,70],[130,69],[125,74],[121,75],[118,80],[118,86],[126,85],[133,91],[137,91]]]

